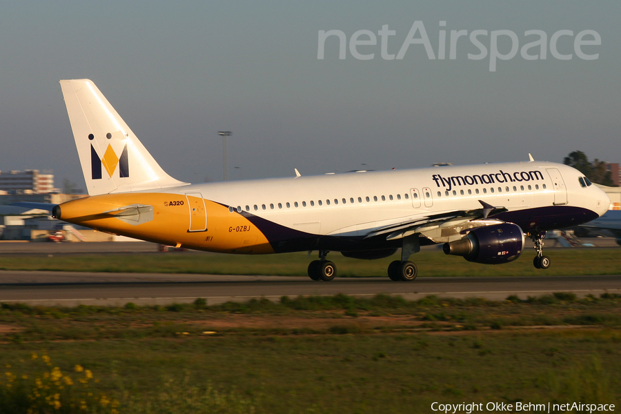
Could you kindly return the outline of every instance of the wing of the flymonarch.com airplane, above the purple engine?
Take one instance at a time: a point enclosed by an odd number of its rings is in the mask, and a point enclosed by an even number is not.
[[[451,210],[442,213],[417,217],[410,221],[404,221],[398,224],[391,224],[378,228],[368,233],[364,238],[386,235],[386,240],[402,239],[414,235],[416,233],[424,233],[430,230],[438,230],[442,228],[451,228],[465,221],[476,219],[487,219],[507,211],[504,207],[494,207],[484,201],[479,200],[482,208],[474,210]]]

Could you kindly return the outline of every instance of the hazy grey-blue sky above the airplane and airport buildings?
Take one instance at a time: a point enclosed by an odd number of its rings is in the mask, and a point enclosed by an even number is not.
[[[573,150],[621,161],[619,1],[28,1],[0,0],[0,170],[52,169],[83,187],[59,79],[89,78],[172,177],[282,177],[360,168],[562,162]],[[411,44],[422,21],[433,55]],[[446,21],[446,26],[440,26]],[[319,30],[346,35],[326,40]],[[358,30],[374,45],[354,52]],[[446,57],[439,57],[446,30]],[[451,30],[466,30],[449,59]],[[485,59],[469,37],[487,50]],[[518,48],[546,33],[546,59],[520,50],[490,71],[491,32]],[[553,57],[550,43],[560,36]],[[594,30],[600,46],[575,37]],[[421,38],[420,32],[413,38]],[[369,40],[361,34],[358,41]],[[497,36],[497,50],[511,38]],[[583,40],[594,39],[593,36]],[[529,49],[539,55],[540,48]],[[363,165],[363,164],[366,164]],[[237,168],[235,168],[237,167]]]

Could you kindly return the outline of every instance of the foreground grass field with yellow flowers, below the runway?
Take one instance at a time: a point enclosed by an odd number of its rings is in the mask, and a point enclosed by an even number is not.
[[[37,390],[43,406],[59,401],[67,410],[48,412],[63,413],[421,413],[437,401],[618,404],[620,311],[617,295],[567,293],[504,301],[337,295],[217,306],[2,304],[0,411],[25,413],[7,407],[30,404]],[[542,325],[555,329],[532,329]],[[36,380],[51,381],[55,369],[62,375],[46,394]],[[84,395],[79,380],[86,370],[93,377]],[[87,408],[70,411],[81,401]]]

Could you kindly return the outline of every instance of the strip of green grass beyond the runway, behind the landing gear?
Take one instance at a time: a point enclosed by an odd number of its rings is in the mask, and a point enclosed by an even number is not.
[[[534,276],[534,275],[615,275],[621,273],[618,248],[573,248],[548,250],[553,266],[542,273],[533,267],[533,252],[502,266],[466,262],[462,257],[439,251],[413,255],[419,275],[446,276]],[[329,258],[337,264],[341,277],[386,276],[388,264],[398,255],[379,260],[349,259],[337,253]],[[314,256],[313,256],[314,259]],[[55,255],[53,257],[0,257],[0,270],[64,270],[128,273],[196,273],[213,275],[306,276],[311,261],[306,253],[282,255],[223,255],[213,253],[145,253],[121,255]],[[598,266],[593,266],[597,263]]]

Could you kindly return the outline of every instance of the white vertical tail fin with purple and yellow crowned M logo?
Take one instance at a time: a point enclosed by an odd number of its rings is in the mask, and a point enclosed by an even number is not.
[[[184,186],[161,169],[89,79],[60,81],[89,195]]]

